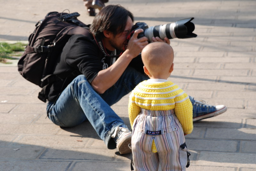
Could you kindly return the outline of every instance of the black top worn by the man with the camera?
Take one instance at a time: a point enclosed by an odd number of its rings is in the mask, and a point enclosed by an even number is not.
[[[111,54],[110,51],[107,53]],[[115,60],[103,54],[93,37],[71,36],[58,57],[53,71],[53,74],[62,79],[57,79],[50,85],[48,100],[55,100],[77,75],[84,74],[91,83],[99,71],[108,68]],[[72,75],[73,71],[76,71],[75,75]],[[66,78],[67,80],[64,81]]]

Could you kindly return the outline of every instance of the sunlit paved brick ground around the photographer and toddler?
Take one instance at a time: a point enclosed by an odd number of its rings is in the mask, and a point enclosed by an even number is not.
[[[0,40],[27,41],[47,12],[79,12],[82,0],[0,0]],[[188,171],[256,171],[256,1],[110,0],[149,26],[195,17],[197,38],[173,39],[170,78],[188,94],[228,111],[194,124],[186,136]],[[0,65],[0,170],[129,170],[131,155],[108,150],[89,123],[60,128],[46,118],[40,88],[22,78],[15,61]],[[129,124],[128,95],[112,106]],[[89,132],[89,133],[88,133]]]

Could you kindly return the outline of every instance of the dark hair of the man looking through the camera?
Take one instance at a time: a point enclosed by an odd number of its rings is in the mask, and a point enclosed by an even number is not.
[[[122,33],[128,17],[131,17],[133,22],[132,13],[120,5],[105,6],[93,19],[90,32],[93,36],[104,36],[104,30],[108,30],[114,35]]]

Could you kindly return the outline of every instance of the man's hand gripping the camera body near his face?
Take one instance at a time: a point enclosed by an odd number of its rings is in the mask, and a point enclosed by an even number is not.
[[[143,29],[135,30],[126,47],[126,51],[128,51],[128,53],[130,53],[133,58],[138,56],[142,49],[148,44],[147,37],[144,36],[139,39],[137,38],[138,34],[141,32],[143,32]]]

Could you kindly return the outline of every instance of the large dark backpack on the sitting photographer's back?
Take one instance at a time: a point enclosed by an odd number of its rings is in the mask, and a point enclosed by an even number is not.
[[[56,59],[63,47],[74,34],[90,36],[89,25],[77,19],[79,13],[49,12],[38,21],[35,31],[28,38],[28,45],[18,62],[18,71],[28,81],[43,90],[38,98],[46,102],[46,86],[58,77],[53,75]]]

